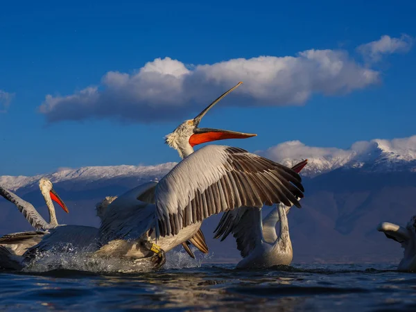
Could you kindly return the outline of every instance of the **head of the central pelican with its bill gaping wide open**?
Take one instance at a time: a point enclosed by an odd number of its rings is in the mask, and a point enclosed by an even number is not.
[[[220,130],[220,129],[213,129],[213,128],[198,128],[198,125],[202,119],[202,117],[207,114],[207,112],[216,105],[222,98],[224,98],[227,94],[234,91],[239,85],[242,83],[238,83],[236,86],[229,89],[227,92],[222,94],[219,98],[217,98],[214,102],[209,104],[205,110],[202,110],[198,116],[194,119],[189,119],[181,123],[172,133],[166,135],[165,140],[168,146],[175,148],[179,153],[180,157],[184,158],[193,153],[193,146],[198,144],[210,142],[210,141],[218,141],[223,139],[246,139],[248,137],[254,137],[256,135],[251,133],[243,133],[243,132],[235,132],[229,130]]]

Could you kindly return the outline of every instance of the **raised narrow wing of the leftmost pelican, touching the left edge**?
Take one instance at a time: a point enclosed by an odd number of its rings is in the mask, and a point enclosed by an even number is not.
[[[31,223],[35,229],[51,229],[54,227],[54,225],[50,225],[44,218],[42,218],[42,216],[39,214],[39,212],[37,212],[35,207],[33,207],[30,202],[22,200],[15,193],[0,187],[0,195],[3,196],[3,198],[6,198],[6,200],[15,204],[17,209],[19,209],[26,220],[28,220],[28,223]]]

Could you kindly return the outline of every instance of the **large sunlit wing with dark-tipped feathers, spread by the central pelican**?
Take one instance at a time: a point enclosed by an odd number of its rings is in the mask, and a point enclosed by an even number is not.
[[[205,146],[184,158],[155,189],[157,236],[222,211],[283,202],[300,207],[301,177],[291,168],[241,148]]]

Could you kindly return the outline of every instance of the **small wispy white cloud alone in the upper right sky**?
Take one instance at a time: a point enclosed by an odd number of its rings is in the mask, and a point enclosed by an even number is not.
[[[363,54],[367,61],[378,62],[383,55],[406,53],[410,50],[412,45],[413,37],[410,37],[409,35],[401,35],[399,38],[383,35],[380,40],[358,46],[357,51]]]

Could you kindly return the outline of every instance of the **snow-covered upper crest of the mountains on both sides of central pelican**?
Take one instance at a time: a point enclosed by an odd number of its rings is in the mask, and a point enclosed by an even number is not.
[[[309,162],[303,169],[302,175],[308,177],[315,177],[339,168],[344,170],[361,168],[365,172],[416,172],[416,136],[392,141],[382,139],[359,141],[347,150],[316,148],[305,146],[300,141],[288,141],[256,153],[286,166],[293,166],[307,158]],[[146,182],[155,178],[161,179],[175,164],[177,163],[168,162],[155,166],[89,166],[32,177],[5,175],[0,176],[0,185],[15,191],[23,187],[35,186],[44,176],[53,183],[76,182],[78,187],[113,178]]]

